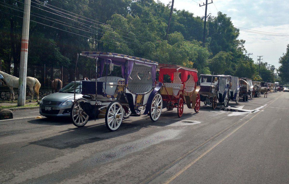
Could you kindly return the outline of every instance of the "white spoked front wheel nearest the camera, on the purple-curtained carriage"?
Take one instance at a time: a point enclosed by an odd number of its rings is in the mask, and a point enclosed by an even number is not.
[[[118,101],[111,102],[105,112],[105,125],[110,131],[116,131],[123,121],[123,107]]]

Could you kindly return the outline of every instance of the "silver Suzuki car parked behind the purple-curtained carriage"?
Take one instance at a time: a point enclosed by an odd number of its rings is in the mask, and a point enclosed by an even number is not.
[[[75,99],[82,98],[79,93],[80,81],[76,81]],[[39,113],[45,117],[70,117],[74,100],[74,81],[57,93],[49,94],[40,100]]]

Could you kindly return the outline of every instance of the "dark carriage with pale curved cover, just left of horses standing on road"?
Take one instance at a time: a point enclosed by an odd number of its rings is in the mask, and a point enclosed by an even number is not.
[[[241,88],[239,96],[243,98],[243,102],[248,101],[248,98],[252,99],[254,89],[252,80],[248,78],[239,78],[239,84]]]

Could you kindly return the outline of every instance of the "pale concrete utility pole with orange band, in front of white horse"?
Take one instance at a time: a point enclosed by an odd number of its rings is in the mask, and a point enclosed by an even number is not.
[[[18,102],[17,102],[18,106],[25,105],[25,97],[26,97],[26,73],[27,73],[28,38],[29,38],[30,2],[31,2],[30,0],[24,1]]]

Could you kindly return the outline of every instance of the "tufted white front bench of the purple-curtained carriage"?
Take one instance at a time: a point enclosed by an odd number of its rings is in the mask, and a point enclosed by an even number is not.
[[[97,79],[98,82],[103,82],[103,89],[102,91],[109,95],[114,95],[116,91],[116,87],[118,84],[118,80],[124,80],[121,77],[115,76],[107,76],[106,77],[106,89],[105,89],[105,77],[100,77]]]

